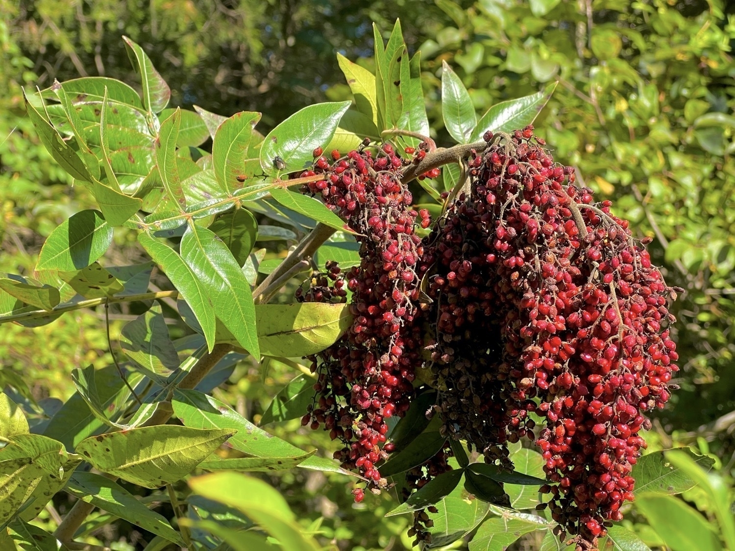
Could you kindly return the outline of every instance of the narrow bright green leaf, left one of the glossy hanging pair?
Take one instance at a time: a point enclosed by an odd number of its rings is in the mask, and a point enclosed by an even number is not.
[[[207,295],[204,285],[199,281],[196,273],[184,262],[184,259],[171,247],[155,240],[145,232],[138,234],[137,239],[151,256],[151,259],[168,276],[173,286],[178,289],[182,298],[187,301],[201,326],[204,338],[207,339],[207,347],[211,352],[215,345],[217,318],[214,311],[212,311],[212,301]]]

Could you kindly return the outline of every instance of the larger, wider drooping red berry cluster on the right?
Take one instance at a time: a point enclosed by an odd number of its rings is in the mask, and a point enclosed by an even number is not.
[[[642,412],[668,400],[675,292],[532,131],[486,134],[429,237],[429,367],[445,432],[486,461],[507,466],[506,440],[535,437],[528,411],[546,418],[543,490],[586,550],[633,497]]]

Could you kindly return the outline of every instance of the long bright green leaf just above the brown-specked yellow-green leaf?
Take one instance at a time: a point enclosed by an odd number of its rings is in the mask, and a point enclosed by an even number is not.
[[[240,450],[248,455],[260,458],[284,458],[301,457],[306,453],[253,425],[237,411],[214,397],[196,390],[177,389],[173,395],[172,404],[176,417],[179,417],[187,427],[223,428],[237,431],[228,443],[235,450]],[[299,467],[351,474],[340,469],[334,461],[320,457],[310,457],[301,462]]]

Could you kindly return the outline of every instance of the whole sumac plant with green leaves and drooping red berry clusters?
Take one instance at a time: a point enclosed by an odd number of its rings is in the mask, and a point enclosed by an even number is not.
[[[478,120],[444,65],[457,145],[437,147],[396,24],[387,46],[376,32],[375,74],[340,57],[354,102],[311,105],[264,137],[257,112],[167,108],[167,84],[125,41],[140,92],[85,77],[26,95],[98,209],[51,232],[32,277],[0,278],[0,323],[142,313],[112,365],[74,370],[60,408],[7,386],[2,549],[82,548],[95,508],[151,550],[319,549],[275,489],[238,473],[297,467],[343,473],[356,502],[393,491],[389,515],[411,514],[426,549],[501,549],[533,530],[545,549],[645,547],[618,524],[626,503],[693,485],[663,453],[641,455],[678,370],[677,290],[534,135],[553,85]],[[114,235],[150,260],[101,260]],[[256,248],[264,238],[287,244]],[[153,270],[168,290],[151,288]],[[189,334],[172,341],[162,300]],[[248,356],[306,359],[262,422],[300,417],[334,447],[299,449],[212,396]],[[32,521],[62,491],[79,499],[49,533]],[[240,525],[215,520],[218,502]]]

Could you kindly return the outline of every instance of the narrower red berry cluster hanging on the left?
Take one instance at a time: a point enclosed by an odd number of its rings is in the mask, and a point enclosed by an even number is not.
[[[301,176],[323,178],[310,182],[304,192],[320,195],[356,232],[362,260],[345,275],[354,321],[340,340],[313,358],[318,399],[302,422],[312,428],[323,424],[332,439],[340,439],[345,447],[335,458],[343,467],[358,469],[368,488],[379,491],[387,484],[376,467],[388,454],[381,448],[386,420],[408,409],[420,362],[414,306],[419,283],[415,270],[423,255],[414,233],[419,215],[401,183],[407,162],[390,144],[374,156],[364,147],[346,156],[333,151],[331,159],[321,153],[315,151],[314,169]],[[317,293],[320,300],[331,296],[323,289]],[[317,299],[312,291],[309,296]],[[361,501],[364,491],[354,494]]]

